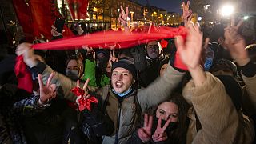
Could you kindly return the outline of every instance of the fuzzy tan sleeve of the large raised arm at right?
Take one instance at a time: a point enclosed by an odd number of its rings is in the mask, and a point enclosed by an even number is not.
[[[239,125],[238,112],[222,82],[206,73],[202,86],[194,86],[191,80],[186,89],[192,92],[191,102],[202,125],[193,142],[234,142]]]

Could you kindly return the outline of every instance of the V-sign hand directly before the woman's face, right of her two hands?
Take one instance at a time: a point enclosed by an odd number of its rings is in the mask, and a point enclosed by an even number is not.
[[[154,142],[166,141],[166,139],[168,138],[165,130],[167,126],[169,126],[170,124],[170,118],[166,121],[163,127],[161,127],[161,122],[162,122],[162,115],[160,116],[160,118],[158,118],[157,129],[154,131],[154,134],[152,135],[152,139]]]

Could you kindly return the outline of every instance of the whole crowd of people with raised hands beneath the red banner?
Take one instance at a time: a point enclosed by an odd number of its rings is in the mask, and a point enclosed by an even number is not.
[[[121,10],[130,34],[128,8]],[[33,93],[20,89],[30,83],[25,74],[14,76],[16,56],[3,59],[13,67],[2,72],[0,143],[254,143],[256,63],[239,33],[242,21],[217,43],[191,16],[183,3],[186,41],[46,51],[19,44]],[[51,34],[62,38],[55,26]]]

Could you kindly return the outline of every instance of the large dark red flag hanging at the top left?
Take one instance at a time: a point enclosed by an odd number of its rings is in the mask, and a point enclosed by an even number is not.
[[[24,0],[14,0],[13,2],[28,42],[32,42],[34,37],[40,34],[43,34],[47,39],[52,38],[51,25],[54,24],[56,18],[62,18],[56,0],[30,0],[27,3]],[[73,35],[66,26],[64,29],[66,32],[63,36]]]

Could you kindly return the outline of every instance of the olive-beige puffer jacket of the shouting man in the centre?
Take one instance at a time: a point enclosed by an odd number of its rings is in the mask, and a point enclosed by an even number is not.
[[[44,82],[50,76],[53,70],[49,66],[42,71],[42,79]],[[181,82],[185,73],[175,70],[172,66],[168,66],[166,73],[163,77],[155,80],[150,86],[143,90],[134,90],[131,94],[123,99],[122,103],[118,102],[118,98],[113,94],[109,85],[104,86],[98,90],[98,95],[101,95],[102,100],[108,97],[108,105],[106,106],[106,113],[114,122],[114,133],[111,136],[104,136],[103,143],[126,143],[130,138],[132,132],[135,130],[136,122],[138,122],[138,109],[145,111],[150,106],[157,105],[159,102],[164,101],[174,91],[174,88]],[[70,92],[76,82],[70,81],[62,74],[54,74],[52,83],[55,83],[62,90],[64,98],[70,101],[75,101],[75,96]],[[83,84],[81,83],[81,86]],[[95,90],[89,87],[90,90]],[[135,101],[138,99],[138,106]]]

